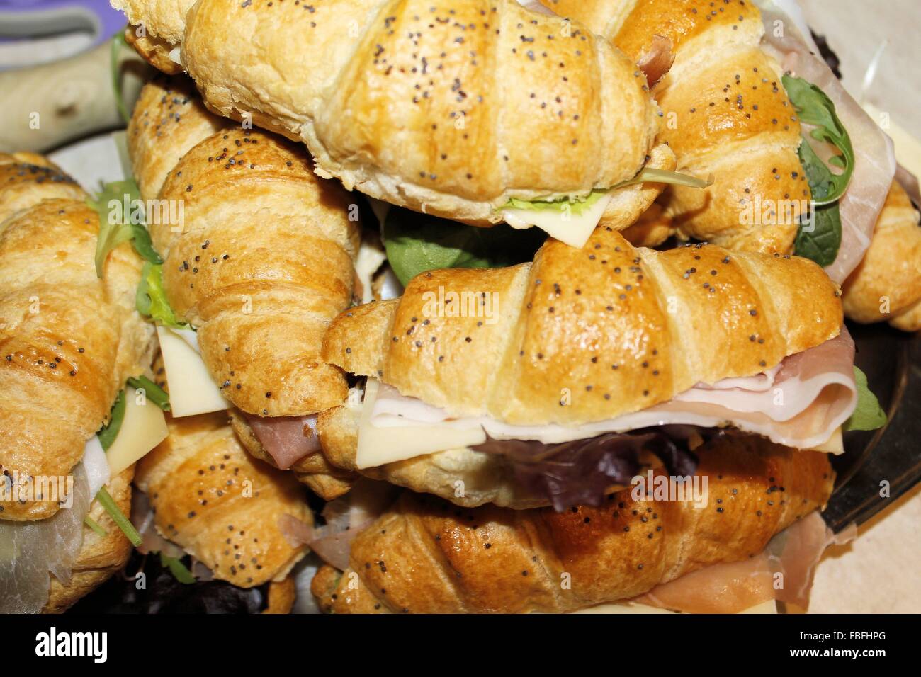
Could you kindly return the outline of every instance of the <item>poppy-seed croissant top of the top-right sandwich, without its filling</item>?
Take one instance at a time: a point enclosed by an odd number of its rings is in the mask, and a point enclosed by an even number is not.
[[[705,191],[670,186],[663,196],[680,234],[734,250],[793,251],[801,204],[811,193],[797,155],[799,119],[780,65],[759,47],[764,25],[755,3],[541,2],[636,60],[656,36],[670,41],[674,64],[654,88],[666,119],[659,141],[675,152],[680,171],[714,175]],[[789,204],[790,214],[775,210],[764,224],[745,225],[747,208],[759,214],[769,204]]]

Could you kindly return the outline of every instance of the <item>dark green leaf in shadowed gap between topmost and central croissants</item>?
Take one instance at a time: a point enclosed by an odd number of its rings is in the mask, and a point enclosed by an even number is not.
[[[383,228],[387,259],[403,285],[440,268],[498,268],[530,261],[546,238],[538,228],[476,228],[397,207],[388,212]]]

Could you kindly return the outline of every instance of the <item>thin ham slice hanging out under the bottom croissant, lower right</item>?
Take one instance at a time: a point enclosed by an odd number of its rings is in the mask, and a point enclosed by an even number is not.
[[[768,600],[809,605],[815,568],[825,548],[847,543],[852,527],[834,534],[818,512],[781,531],[755,557],[705,566],[657,586],[634,601],[684,613],[740,613]]]

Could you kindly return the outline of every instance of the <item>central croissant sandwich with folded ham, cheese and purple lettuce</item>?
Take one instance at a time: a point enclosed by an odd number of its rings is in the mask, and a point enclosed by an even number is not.
[[[367,386],[321,414],[321,444],[462,506],[557,509],[650,465],[693,473],[720,428],[840,451],[858,399],[842,319],[798,257],[550,239],[533,263],[420,274],[333,321],[322,355]]]

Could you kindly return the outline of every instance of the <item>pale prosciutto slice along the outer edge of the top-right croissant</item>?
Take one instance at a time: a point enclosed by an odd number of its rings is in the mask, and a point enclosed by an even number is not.
[[[873,122],[822,61],[819,48],[809,37],[809,29],[795,3],[758,0],[756,5],[764,19],[764,51],[774,56],[785,72],[808,80],[832,99],[854,146],[854,174],[839,202],[841,247],[834,263],[825,268],[828,276],[841,284],[866,254],[889,193],[895,175],[892,139]],[[778,30],[777,26],[784,29]]]

